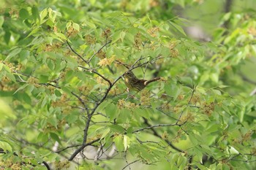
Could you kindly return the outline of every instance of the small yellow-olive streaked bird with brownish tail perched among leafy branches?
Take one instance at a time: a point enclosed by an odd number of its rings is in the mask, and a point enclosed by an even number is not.
[[[160,77],[156,77],[151,80],[143,80],[135,77],[135,74],[133,74],[132,72],[124,73],[125,85],[127,85],[127,88],[129,88],[130,90],[135,90],[135,91],[143,90],[143,88],[145,88],[149,83],[155,82],[159,79]]]

